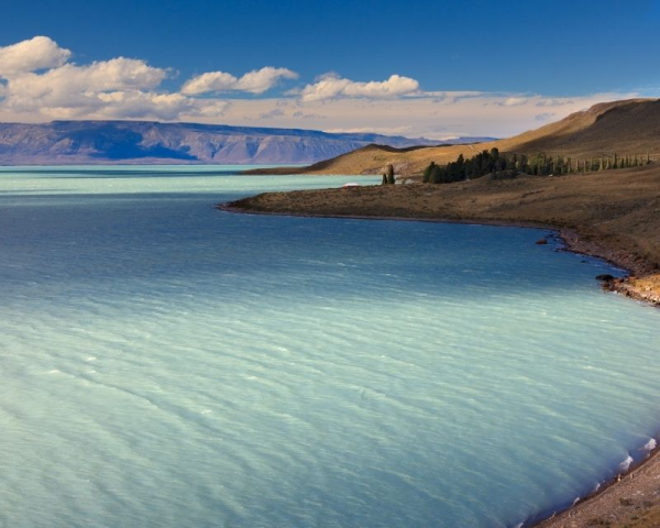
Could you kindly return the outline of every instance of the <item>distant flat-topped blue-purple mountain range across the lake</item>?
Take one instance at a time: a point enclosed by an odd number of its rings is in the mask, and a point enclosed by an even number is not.
[[[152,121],[0,123],[0,165],[315,163],[369,144],[398,148],[465,144],[364,133]]]

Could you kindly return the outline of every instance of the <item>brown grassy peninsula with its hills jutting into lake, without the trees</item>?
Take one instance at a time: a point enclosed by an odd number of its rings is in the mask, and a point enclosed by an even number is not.
[[[660,304],[660,163],[654,161],[660,158],[659,123],[660,100],[636,99],[596,105],[496,142],[406,150],[370,146],[295,172],[381,174],[392,164],[399,183],[415,185],[267,193],[226,207],[250,212],[556,229],[571,250],[606,258],[631,272],[608,287]],[[492,174],[446,185],[420,184],[430,162],[453,162],[482,148],[530,156],[543,152],[549,157],[561,153],[578,163],[588,158],[594,169],[544,176]],[[636,156],[636,166],[605,170],[595,162],[624,155]],[[271,172],[279,174],[286,168]]]

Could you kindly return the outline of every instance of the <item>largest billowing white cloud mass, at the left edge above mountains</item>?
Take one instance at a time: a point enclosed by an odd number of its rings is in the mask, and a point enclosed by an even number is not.
[[[158,91],[169,69],[136,58],[117,57],[87,65],[67,63],[45,36],[0,48],[0,112],[46,119],[217,118],[228,107]],[[42,119],[43,119],[42,118]]]

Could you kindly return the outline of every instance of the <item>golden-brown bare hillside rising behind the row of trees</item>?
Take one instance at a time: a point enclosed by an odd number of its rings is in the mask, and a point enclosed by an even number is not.
[[[595,105],[540,129],[490,143],[392,148],[369,145],[308,167],[254,170],[252,174],[382,174],[392,163],[397,174],[419,174],[431,161],[447,163],[460,154],[473,156],[484,148],[502,152],[572,157],[660,155],[660,100],[630,99]]]

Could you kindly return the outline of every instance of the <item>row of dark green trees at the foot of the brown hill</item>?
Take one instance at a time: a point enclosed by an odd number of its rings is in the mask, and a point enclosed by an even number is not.
[[[449,184],[475,179],[487,174],[515,175],[519,173],[548,176],[552,174],[576,174],[592,170],[608,170],[613,168],[638,167],[651,163],[651,157],[644,156],[619,156],[592,157],[587,160],[572,160],[562,156],[548,156],[537,154],[526,156],[525,154],[499,154],[497,148],[482,151],[470,160],[461,154],[455,162],[447,165],[436,165],[431,162],[424,170],[425,184]]]

